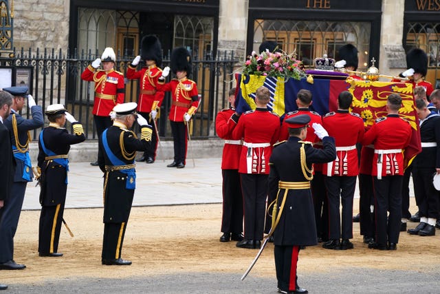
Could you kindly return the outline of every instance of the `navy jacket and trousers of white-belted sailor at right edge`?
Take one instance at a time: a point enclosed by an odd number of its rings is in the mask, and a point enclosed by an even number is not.
[[[440,116],[431,112],[420,122],[421,153],[412,162],[415,198],[419,215],[439,218],[440,191],[432,184],[432,176],[440,168]]]

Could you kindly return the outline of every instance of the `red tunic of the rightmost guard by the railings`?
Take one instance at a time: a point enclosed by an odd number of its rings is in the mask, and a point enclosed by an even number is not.
[[[184,114],[188,112],[188,109],[192,107],[195,112],[197,107],[199,107],[197,84],[188,78],[182,78],[180,81],[177,78],[173,78],[169,83],[157,84],[157,90],[171,92],[173,101],[171,102],[170,114],[168,116],[171,121],[183,122]]]

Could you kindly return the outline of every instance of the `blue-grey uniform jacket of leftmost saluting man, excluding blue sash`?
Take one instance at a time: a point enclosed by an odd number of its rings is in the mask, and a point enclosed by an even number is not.
[[[43,127],[44,125],[44,119],[43,119],[43,111],[41,110],[41,106],[34,105],[31,107],[31,113],[32,118],[26,119],[23,118],[18,113],[15,113],[15,119],[17,120],[17,131],[19,134],[19,143],[20,145],[25,145],[28,141],[28,131],[32,129],[38,129],[39,127]],[[11,134],[11,143],[12,145],[15,145],[15,136],[14,131],[12,129],[12,116],[14,115],[13,112],[11,112],[10,116],[5,120],[5,126],[8,127]],[[23,169],[25,169],[25,165],[23,160],[16,160],[17,161],[17,169],[15,169],[14,174],[14,182],[28,182],[27,180],[23,179]],[[30,178],[32,182],[33,173],[31,171]]]

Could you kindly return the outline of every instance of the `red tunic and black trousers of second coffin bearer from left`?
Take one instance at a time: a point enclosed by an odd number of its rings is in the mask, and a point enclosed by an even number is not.
[[[237,123],[238,121],[238,123]],[[267,197],[269,161],[272,145],[278,140],[280,120],[267,108],[256,108],[238,117],[234,114],[228,121],[232,127],[232,139],[241,140],[243,147],[239,160],[241,191],[244,207],[245,240],[263,240],[266,199],[268,204],[272,198]],[[274,199],[274,198],[273,198]]]

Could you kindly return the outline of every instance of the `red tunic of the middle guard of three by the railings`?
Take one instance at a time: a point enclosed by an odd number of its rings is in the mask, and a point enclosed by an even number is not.
[[[139,80],[140,93],[137,101],[138,112],[151,112],[156,107],[162,105],[164,100],[164,92],[157,91],[156,85],[161,83],[159,77],[162,76],[162,70],[156,65],[142,67],[136,71],[136,67],[129,65],[126,70],[126,77],[131,80]],[[162,84],[164,81],[162,82]]]

